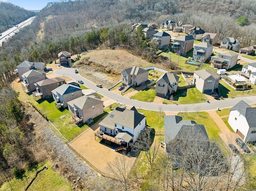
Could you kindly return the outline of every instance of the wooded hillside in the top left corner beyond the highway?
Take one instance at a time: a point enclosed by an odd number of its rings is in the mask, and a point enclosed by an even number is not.
[[[11,3],[0,2],[0,33],[37,14]]]

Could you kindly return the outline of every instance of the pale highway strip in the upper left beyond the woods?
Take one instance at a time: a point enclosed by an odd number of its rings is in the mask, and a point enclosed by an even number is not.
[[[30,17],[29,19],[21,22],[20,24],[17,24],[16,26],[6,30],[5,32],[2,32],[2,36],[0,36],[0,47],[2,46],[3,42],[7,42],[10,37],[15,35],[17,32],[19,32],[20,29],[22,29],[25,26],[28,26],[32,23],[35,17]]]

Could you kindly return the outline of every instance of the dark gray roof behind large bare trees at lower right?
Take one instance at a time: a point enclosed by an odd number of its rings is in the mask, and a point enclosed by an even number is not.
[[[164,132],[166,143],[174,139],[209,141],[204,125],[198,125],[191,120],[183,120],[182,117],[176,115],[164,116]]]

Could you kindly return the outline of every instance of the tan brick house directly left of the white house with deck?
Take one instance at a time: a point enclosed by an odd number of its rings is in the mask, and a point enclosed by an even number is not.
[[[78,123],[82,121],[86,122],[89,118],[95,118],[96,116],[104,113],[103,101],[95,98],[95,96],[82,96],[74,100],[67,102],[68,111],[73,114],[73,121]]]

